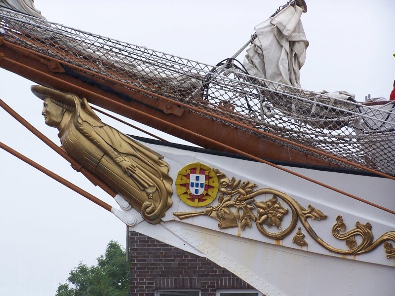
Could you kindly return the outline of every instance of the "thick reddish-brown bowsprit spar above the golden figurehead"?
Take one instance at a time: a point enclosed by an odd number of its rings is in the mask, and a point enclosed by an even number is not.
[[[177,102],[170,103],[142,91],[115,85],[85,70],[70,69],[64,62],[0,42],[0,67],[44,86],[86,97],[89,103],[161,130],[198,146],[225,150],[229,146],[258,158],[336,167],[312,155],[286,147],[245,130],[207,117]],[[78,74],[79,77],[73,76]],[[88,83],[88,81],[90,83]],[[126,98],[126,99],[125,99]],[[129,101],[128,101],[129,100]],[[222,144],[222,145],[221,145]]]

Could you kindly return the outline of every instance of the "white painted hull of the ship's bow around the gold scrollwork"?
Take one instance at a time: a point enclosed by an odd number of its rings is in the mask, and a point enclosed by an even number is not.
[[[345,241],[332,235],[336,217],[342,216],[345,231],[356,227],[356,222],[372,225],[373,241],[386,232],[395,230],[393,214],[344,196],[333,190],[280,171],[271,166],[230,157],[185,151],[144,144],[164,155],[174,180],[178,171],[189,163],[200,162],[217,168],[229,179],[235,177],[257,184],[256,188],[273,188],[295,199],[301,206],[314,206],[322,211],[325,220],[309,221],[316,234],[329,245],[348,250]],[[385,178],[333,173],[302,168],[293,171],[334,186],[383,207],[394,209],[395,182]],[[173,184],[173,190],[176,189]],[[271,196],[268,195],[268,198]],[[297,227],[305,234],[307,246],[292,242],[296,229],[283,240],[262,235],[255,223],[252,227],[218,228],[218,221],[198,216],[180,221],[173,213],[202,211],[180,200],[176,193],[173,205],[158,225],[143,221],[140,214],[130,210],[136,218],[130,230],[143,233],[160,241],[206,257],[227,268],[267,296],[333,296],[333,295],[394,295],[395,259],[386,257],[383,244],[361,255],[340,255],[319,245],[298,221]],[[257,196],[256,201],[265,201]],[[281,201],[280,201],[281,203]],[[218,199],[211,205],[218,204]],[[282,202],[282,206],[287,205]],[[256,210],[254,210],[256,211]],[[290,222],[285,215],[283,228]],[[288,223],[288,224],[287,224]],[[273,229],[273,231],[276,231]],[[389,241],[394,245],[393,241]],[[359,244],[358,237],[356,243]]]

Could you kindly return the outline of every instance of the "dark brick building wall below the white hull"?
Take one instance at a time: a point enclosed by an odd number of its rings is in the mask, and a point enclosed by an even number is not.
[[[216,289],[252,289],[212,261],[129,232],[130,295],[154,296],[155,290],[198,289],[215,296]]]

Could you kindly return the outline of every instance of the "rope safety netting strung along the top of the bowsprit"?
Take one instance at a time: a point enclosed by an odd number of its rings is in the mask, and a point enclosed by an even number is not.
[[[233,58],[209,66],[5,8],[0,8],[0,37],[122,87],[126,83],[182,102],[204,116],[210,117],[209,111],[217,115],[213,120],[226,118],[227,124],[272,141],[278,142],[259,131],[395,174],[394,102],[339,99],[250,76]]]

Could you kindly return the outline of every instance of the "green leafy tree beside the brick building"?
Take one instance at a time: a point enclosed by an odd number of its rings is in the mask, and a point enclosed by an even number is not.
[[[125,256],[118,242],[109,242],[97,265],[79,263],[68,283],[59,285],[56,296],[129,296],[130,267]]]

